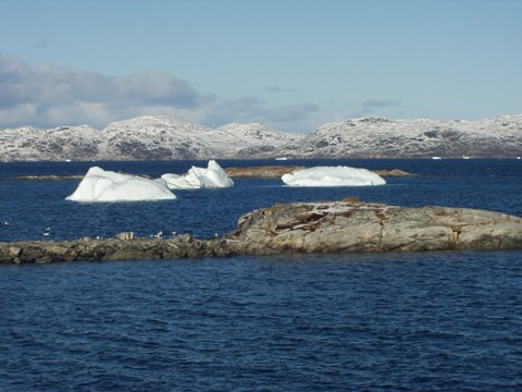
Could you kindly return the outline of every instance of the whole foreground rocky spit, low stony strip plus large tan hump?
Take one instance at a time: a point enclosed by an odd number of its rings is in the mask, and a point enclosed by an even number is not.
[[[289,253],[382,253],[522,248],[522,218],[450,207],[353,200],[277,204],[244,215],[236,231],[198,240],[80,238],[0,243],[0,264],[152,260]]]

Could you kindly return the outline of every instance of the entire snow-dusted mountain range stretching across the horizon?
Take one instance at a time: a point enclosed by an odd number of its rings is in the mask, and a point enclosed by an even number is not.
[[[171,117],[52,130],[0,130],[0,161],[224,158],[515,157],[522,114],[481,121],[364,118],[330,123],[308,136],[262,123],[217,128]]]

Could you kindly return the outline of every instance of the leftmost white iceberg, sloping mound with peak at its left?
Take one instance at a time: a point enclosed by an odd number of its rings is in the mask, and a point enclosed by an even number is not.
[[[76,191],[67,196],[73,201],[149,201],[172,200],[176,196],[163,180],[149,180],[92,167]]]

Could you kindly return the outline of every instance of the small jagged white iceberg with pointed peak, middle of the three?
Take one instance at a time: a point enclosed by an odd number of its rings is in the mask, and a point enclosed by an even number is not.
[[[166,173],[161,176],[171,189],[200,189],[234,186],[234,181],[215,160],[210,160],[207,169],[191,167],[187,174]]]

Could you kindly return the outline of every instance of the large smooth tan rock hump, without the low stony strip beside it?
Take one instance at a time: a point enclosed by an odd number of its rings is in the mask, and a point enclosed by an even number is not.
[[[247,213],[238,253],[344,253],[522,247],[522,219],[465,208],[351,201],[279,204]]]

